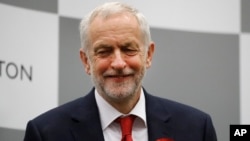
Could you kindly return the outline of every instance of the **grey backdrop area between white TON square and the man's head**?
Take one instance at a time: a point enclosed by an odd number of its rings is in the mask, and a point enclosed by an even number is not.
[[[79,19],[59,19],[59,104],[84,96],[92,83],[80,60]]]

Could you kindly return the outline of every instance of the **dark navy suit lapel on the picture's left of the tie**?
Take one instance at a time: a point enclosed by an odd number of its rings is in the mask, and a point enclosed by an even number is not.
[[[71,132],[75,141],[104,141],[94,89],[79,103],[72,114]]]

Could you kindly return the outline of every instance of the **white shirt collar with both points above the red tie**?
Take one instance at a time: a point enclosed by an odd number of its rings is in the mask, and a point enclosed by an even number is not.
[[[100,120],[103,130],[106,129],[115,119],[117,119],[120,116],[124,116],[124,114],[117,111],[106,100],[104,100],[103,97],[101,97],[100,94],[98,94],[97,90],[95,90],[95,99],[99,109]],[[130,114],[139,117],[141,120],[143,120],[146,126],[147,122],[146,122],[145,96],[142,89],[137,104],[128,115]]]

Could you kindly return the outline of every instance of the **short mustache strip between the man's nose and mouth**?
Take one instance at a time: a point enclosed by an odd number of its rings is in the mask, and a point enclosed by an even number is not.
[[[114,76],[128,76],[135,73],[132,69],[122,69],[122,70],[107,70],[103,73],[104,77],[114,77]]]

